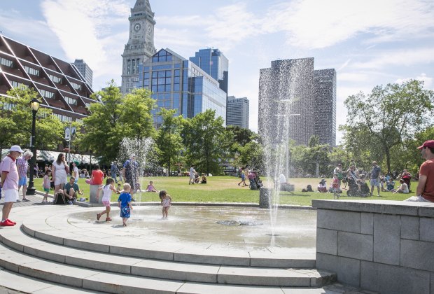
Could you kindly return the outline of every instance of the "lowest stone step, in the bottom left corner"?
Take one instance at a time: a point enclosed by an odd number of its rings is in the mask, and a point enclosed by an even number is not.
[[[80,293],[104,293],[94,290],[84,290],[83,288],[74,288],[62,286],[57,283],[50,283],[41,279],[31,278],[16,272],[10,272],[0,267],[0,286],[6,287],[23,293],[38,294],[80,294]],[[0,293],[1,292],[0,290]]]

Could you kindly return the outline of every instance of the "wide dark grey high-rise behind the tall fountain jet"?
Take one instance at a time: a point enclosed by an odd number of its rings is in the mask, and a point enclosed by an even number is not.
[[[307,145],[318,134],[321,144],[335,146],[335,93],[335,70],[315,71],[314,58],[272,61],[270,68],[260,70],[259,134],[277,139],[278,130],[287,127],[296,144]],[[318,105],[330,109],[321,111]]]

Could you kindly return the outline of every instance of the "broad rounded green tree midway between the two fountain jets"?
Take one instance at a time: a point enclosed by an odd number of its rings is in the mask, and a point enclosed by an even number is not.
[[[186,146],[186,155],[198,170],[207,174],[220,174],[219,163],[228,157],[228,132],[223,127],[224,120],[216,118],[216,111],[207,110],[194,118],[185,120],[181,137]]]

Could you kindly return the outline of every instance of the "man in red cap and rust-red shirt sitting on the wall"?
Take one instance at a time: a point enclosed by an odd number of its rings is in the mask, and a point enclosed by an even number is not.
[[[409,197],[406,201],[434,202],[434,140],[425,141],[418,149],[426,162],[419,169],[416,196]]]

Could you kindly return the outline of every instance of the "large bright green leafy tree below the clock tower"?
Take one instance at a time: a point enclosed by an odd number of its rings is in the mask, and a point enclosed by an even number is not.
[[[90,105],[90,116],[83,119],[85,133],[78,140],[80,148],[102,156],[103,162],[116,160],[123,138],[153,137],[151,92],[134,90],[125,97],[113,80],[105,90],[95,92],[101,103]]]

